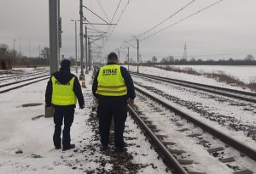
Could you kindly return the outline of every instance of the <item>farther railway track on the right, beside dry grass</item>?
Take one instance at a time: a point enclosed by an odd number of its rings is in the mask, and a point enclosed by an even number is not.
[[[214,87],[214,86],[205,85],[201,83],[181,81],[177,79],[171,79],[171,78],[162,77],[162,76],[147,75],[142,73],[131,72],[131,75],[145,77],[148,79],[154,79],[157,81],[165,81],[165,82],[183,86],[183,87],[191,87],[191,88],[195,88],[201,91],[206,91],[209,93],[216,93],[216,94],[227,96],[230,98],[237,98],[244,101],[256,103],[256,93],[249,93],[249,92],[239,91],[239,90],[225,88],[225,87]]]

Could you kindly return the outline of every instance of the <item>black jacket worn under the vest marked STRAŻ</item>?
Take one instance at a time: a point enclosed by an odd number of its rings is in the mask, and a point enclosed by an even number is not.
[[[108,65],[114,65],[114,64],[113,63],[108,63]],[[128,99],[128,98],[134,99],[134,98],[136,98],[134,85],[133,85],[133,81],[131,79],[130,73],[123,66],[121,66],[120,70],[121,70],[121,75],[123,76],[123,78],[125,80],[125,86],[127,87],[127,95],[122,96],[122,97],[125,98],[125,99]],[[93,93],[93,95],[98,99],[101,99],[101,98],[119,98],[119,97],[113,97],[113,96],[102,96],[102,95],[99,95],[99,94],[96,93],[97,86],[98,86],[97,78],[99,76],[99,71],[100,70],[97,71],[96,76],[95,76],[94,81],[93,81],[93,84],[92,84],[92,93]]]

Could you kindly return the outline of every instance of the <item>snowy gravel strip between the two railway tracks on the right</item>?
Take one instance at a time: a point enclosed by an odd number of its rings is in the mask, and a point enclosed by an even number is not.
[[[168,104],[255,149],[256,104],[136,76],[133,76],[133,80]]]

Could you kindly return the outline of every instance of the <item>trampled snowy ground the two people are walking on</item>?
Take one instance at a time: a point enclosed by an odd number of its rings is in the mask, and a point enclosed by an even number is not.
[[[76,148],[62,152],[55,150],[52,142],[54,123],[44,115],[44,92],[47,80],[0,94],[0,173],[97,173],[117,170],[119,162],[112,161],[113,150],[104,154],[97,139],[96,111],[91,95],[90,75],[86,76],[87,88],[83,89],[85,109],[76,109],[71,128],[72,143]],[[22,104],[41,103],[35,107]],[[91,114],[92,113],[92,114]],[[93,114],[94,113],[94,114]],[[95,124],[94,126],[92,126]],[[166,173],[166,166],[157,160],[158,154],[131,118],[126,121],[125,141],[128,144],[127,160],[138,173]],[[18,152],[21,154],[17,154]],[[118,157],[115,157],[115,159]],[[121,157],[119,157],[121,159]],[[126,164],[123,164],[125,166]],[[123,167],[122,166],[122,167]],[[126,166],[129,167],[129,166]],[[100,172],[101,173],[101,172]]]

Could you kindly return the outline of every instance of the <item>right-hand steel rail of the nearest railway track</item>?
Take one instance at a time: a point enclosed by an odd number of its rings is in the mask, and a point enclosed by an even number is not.
[[[219,132],[217,129],[213,128],[212,126],[209,126],[209,125],[203,123],[202,121],[196,119],[195,117],[184,113],[182,110],[173,107],[171,104],[167,104],[166,101],[163,101],[160,98],[154,97],[153,95],[144,92],[142,89],[140,89],[138,87],[135,87],[135,88],[139,93],[143,93],[143,95],[147,96],[148,98],[153,99],[157,103],[165,106],[167,109],[172,110],[172,112],[176,113],[177,115],[182,116],[183,118],[192,122],[196,126],[200,126],[201,129],[209,132],[215,138],[219,138],[221,141],[223,141],[224,143],[229,144],[234,149],[237,149],[240,152],[242,152],[243,154],[246,154],[251,159],[256,160],[256,150],[247,146],[247,144],[241,143],[238,140],[236,140],[235,138],[231,138],[229,135],[227,135],[223,132]]]

